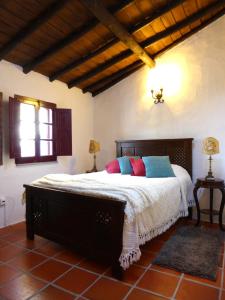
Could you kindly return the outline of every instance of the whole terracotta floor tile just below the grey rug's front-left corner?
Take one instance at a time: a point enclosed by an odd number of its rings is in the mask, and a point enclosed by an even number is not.
[[[179,277],[149,270],[138,284],[138,287],[150,290],[160,295],[171,297],[178,284]]]

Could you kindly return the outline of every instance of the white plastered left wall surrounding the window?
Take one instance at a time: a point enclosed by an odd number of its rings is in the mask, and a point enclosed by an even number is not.
[[[48,173],[79,173],[90,169],[92,157],[88,153],[89,140],[93,138],[93,98],[90,94],[73,88],[69,90],[59,81],[36,72],[25,75],[14,64],[0,63],[0,91],[3,93],[3,166],[0,166],[0,197],[6,199],[6,210],[0,207],[0,227],[24,219],[21,203],[23,184],[30,183]],[[60,157],[58,162],[16,166],[8,155],[8,98],[14,94],[54,102],[59,108],[72,109],[73,156]]]

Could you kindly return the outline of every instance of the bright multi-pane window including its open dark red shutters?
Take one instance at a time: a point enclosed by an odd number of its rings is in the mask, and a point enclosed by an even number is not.
[[[10,157],[17,164],[72,155],[71,110],[28,97],[9,100]],[[60,145],[62,144],[62,145]]]

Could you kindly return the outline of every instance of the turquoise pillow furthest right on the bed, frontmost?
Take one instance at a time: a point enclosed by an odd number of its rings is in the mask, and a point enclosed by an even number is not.
[[[175,177],[169,156],[145,156],[142,159],[145,164],[146,177]]]

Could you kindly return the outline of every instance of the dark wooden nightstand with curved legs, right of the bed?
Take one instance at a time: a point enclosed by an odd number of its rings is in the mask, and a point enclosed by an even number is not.
[[[198,189],[199,188],[205,188],[209,189],[210,192],[210,208],[209,209],[200,209],[199,202],[198,202]],[[225,193],[224,193],[224,180],[220,178],[215,178],[215,180],[205,180],[205,178],[198,178],[195,184],[194,188],[194,198],[195,198],[195,204],[197,208],[197,223],[196,225],[199,225],[200,223],[200,215],[202,214],[207,214],[209,215],[210,218],[210,223],[213,223],[213,216],[218,215],[219,216],[219,225],[220,229],[225,231],[223,228],[223,209],[224,209],[224,204],[225,204]],[[214,189],[219,189],[222,194],[221,198],[221,204],[220,204],[220,209],[219,211],[213,209],[213,192]]]

